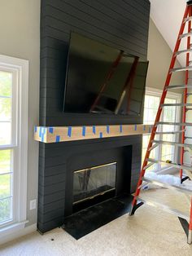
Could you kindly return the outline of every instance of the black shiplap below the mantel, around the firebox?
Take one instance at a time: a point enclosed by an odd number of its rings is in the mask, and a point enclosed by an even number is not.
[[[138,174],[141,168],[142,135],[133,135],[121,138],[90,139],[68,143],[40,143],[39,162],[39,200],[38,200],[38,228],[41,232],[50,230],[51,225],[63,216],[65,205],[66,174],[68,173],[68,161],[76,161],[76,156],[82,152],[101,152],[112,148],[122,148],[132,145],[131,188],[134,192],[137,184]],[[126,157],[126,156],[124,156]],[[127,156],[128,157],[128,156]],[[95,157],[94,157],[95,158]],[[62,163],[55,162],[61,161]],[[80,162],[81,169],[83,162]],[[85,166],[84,166],[85,167]],[[131,172],[131,173],[130,173]],[[129,186],[129,179],[126,179]],[[63,203],[62,203],[63,202]],[[50,218],[50,216],[52,216]],[[57,222],[56,222],[57,223]],[[58,227],[58,226],[55,226]]]

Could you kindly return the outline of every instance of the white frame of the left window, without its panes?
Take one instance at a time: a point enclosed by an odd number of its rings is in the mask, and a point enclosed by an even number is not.
[[[13,149],[13,218],[0,225],[0,237],[27,223],[28,171],[28,60],[0,55],[0,68],[13,73],[12,129],[13,141],[0,150]],[[11,228],[11,229],[10,229]],[[20,229],[20,228],[19,228]]]

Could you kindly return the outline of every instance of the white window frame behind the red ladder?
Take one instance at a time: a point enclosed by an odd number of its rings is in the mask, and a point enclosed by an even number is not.
[[[159,90],[159,89],[152,88],[152,87],[146,87],[145,95],[159,96],[159,98],[161,98],[162,93],[163,93],[163,90]],[[166,97],[169,99],[176,99],[177,104],[181,103],[182,95],[179,93],[168,91]],[[181,120],[181,108],[179,108],[177,110],[177,116],[176,116],[176,121],[179,122],[180,120]],[[176,135],[176,141],[177,141],[177,139],[179,139],[179,135]],[[161,148],[162,148],[162,145],[159,145],[157,154],[155,156],[157,159],[160,159],[160,157],[161,157]],[[174,161],[175,162],[177,162],[177,157],[178,157],[178,148],[176,147],[174,150]],[[159,167],[160,167],[159,164],[155,165],[155,170],[159,170],[160,169]],[[167,169],[168,167],[164,167],[164,168]],[[163,169],[161,169],[161,170],[163,170]]]

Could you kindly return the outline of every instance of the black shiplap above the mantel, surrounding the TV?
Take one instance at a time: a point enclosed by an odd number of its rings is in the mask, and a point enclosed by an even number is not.
[[[40,125],[142,123],[141,117],[63,113],[63,90],[71,31],[146,59],[149,1],[41,1]],[[55,93],[52,93],[55,90]],[[45,99],[46,93],[46,99]]]

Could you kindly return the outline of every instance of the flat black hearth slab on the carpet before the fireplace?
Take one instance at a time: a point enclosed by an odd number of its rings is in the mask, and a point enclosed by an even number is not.
[[[98,205],[94,205],[85,210],[65,218],[63,229],[76,240],[93,232],[94,230],[110,223],[112,220],[129,213],[133,196],[124,195]]]

